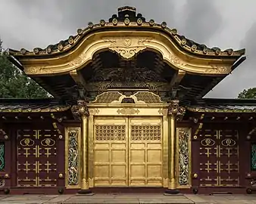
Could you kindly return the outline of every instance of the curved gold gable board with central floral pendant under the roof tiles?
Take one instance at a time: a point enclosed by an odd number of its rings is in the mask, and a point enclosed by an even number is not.
[[[181,52],[167,36],[158,32],[97,32],[87,36],[77,48],[63,57],[50,57],[27,61],[20,59],[27,74],[69,73],[80,70],[92,60],[93,54],[109,49],[126,60],[131,60],[136,54],[149,49],[160,52],[166,61],[176,69],[189,73],[227,74],[230,72],[233,60],[208,59],[193,57]]]

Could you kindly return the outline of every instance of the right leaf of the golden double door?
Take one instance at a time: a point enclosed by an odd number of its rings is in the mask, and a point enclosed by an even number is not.
[[[161,119],[130,119],[129,185],[162,186]]]

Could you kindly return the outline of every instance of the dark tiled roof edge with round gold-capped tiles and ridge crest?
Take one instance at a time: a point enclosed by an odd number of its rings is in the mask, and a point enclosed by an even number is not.
[[[83,39],[84,36],[91,32],[96,32],[98,30],[114,30],[114,29],[144,29],[144,30],[154,30],[158,32],[165,32],[173,42],[176,42],[184,51],[188,51],[191,54],[196,54],[201,57],[212,56],[212,57],[237,57],[239,58],[245,54],[245,49],[239,51],[233,51],[233,49],[227,49],[221,51],[220,48],[208,48],[206,45],[201,45],[190,39],[186,39],[185,36],[180,36],[177,34],[176,29],[170,29],[167,27],[167,23],[162,22],[161,24],[155,23],[155,20],[146,21],[142,14],[136,14],[136,8],[133,7],[122,7],[118,8],[118,14],[112,15],[111,18],[106,22],[105,20],[100,20],[99,23],[93,24],[88,23],[85,29],[77,29],[76,36],[70,36],[66,40],[62,40],[55,45],[48,45],[47,48],[34,48],[33,51],[27,51],[22,48],[20,51],[10,49],[9,53],[14,56],[51,56],[54,54],[61,54],[70,49],[76,47]]]

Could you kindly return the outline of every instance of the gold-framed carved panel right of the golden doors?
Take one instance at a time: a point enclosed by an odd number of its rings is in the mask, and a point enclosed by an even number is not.
[[[190,175],[191,175],[191,163],[190,163],[190,151],[191,142],[189,128],[177,128],[177,150],[179,151],[178,161],[178,182],[180,187],[190,187]]]

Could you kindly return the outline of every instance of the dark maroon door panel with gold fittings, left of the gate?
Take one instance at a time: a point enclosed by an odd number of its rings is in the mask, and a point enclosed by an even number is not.
[[[17,131],[17,186],[56,186],[56,138],[54,130]]]

